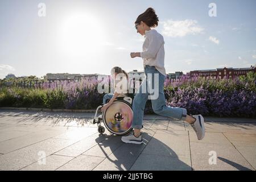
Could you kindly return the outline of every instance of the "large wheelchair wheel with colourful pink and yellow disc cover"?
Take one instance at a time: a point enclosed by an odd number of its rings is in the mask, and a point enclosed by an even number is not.
[[[132,106],[123,100],[115,100],[102,114],[104,125],[111,133],[125,135],[129,133],[133,121]]]

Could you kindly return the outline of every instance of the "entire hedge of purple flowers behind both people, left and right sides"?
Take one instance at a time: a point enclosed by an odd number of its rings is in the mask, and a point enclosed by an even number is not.
[[[166,80],[166,104],[183,107],[188,114],[218,117],[256,117],[256,73],[233,79],[181,77]],[[51,109],[96,109],[102,104],[104,93],[97,91],[97,80],[80,82],[61,81],[44,83],[43,88],[0,88],[0,106],[40,107]],[[146,102],[144,113],[154,113],[151,101]]]

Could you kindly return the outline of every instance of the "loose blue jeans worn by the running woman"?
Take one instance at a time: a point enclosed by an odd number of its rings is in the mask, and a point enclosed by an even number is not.
[[[166,76],[162,75],[155,67],[151,67],[146,65],[144,67],[144,72],[146,74],[146,79],[143,80],[141,86],[139,86],[138,92],[136,93],[134,100],[133,100],[133,123],[132,126],[134,129],[142,129],[142,121],[143,121],[143,114],[146,102],[148,100],[148,88],[154,88],[154,73],[158,73],[159,80],[158,80],[158,98],[151,100],[152,109],[156,114],[163,115],[164,117],[171,117],[185,121],[187,117],[187,109],[180,108],[180,107],[171,107],[166,105],[166,98],[164,97],[164,81]],[[148,75],[147,73],[152,73],[152,82],[148,83]],[[157,80],[156,80],[157,81]],[[145,85],[146,84],[146,85]],[[143,86],[147,88],[147,92],[142,93]]]

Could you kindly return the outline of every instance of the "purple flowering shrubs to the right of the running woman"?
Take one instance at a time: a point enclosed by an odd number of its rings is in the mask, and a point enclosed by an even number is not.
[[[218,117],[256,117],[256,73],[233,79],[188,78],[167,80],[167,105],[183,107],[190,114]]]

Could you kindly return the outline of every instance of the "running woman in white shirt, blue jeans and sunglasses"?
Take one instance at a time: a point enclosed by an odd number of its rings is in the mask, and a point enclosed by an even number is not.
[[[161,34],[155,28],[158,26],[158,16],[155,14],[155,10],[151,7],[148,8],[144,13],[138,16],[135,21],[135,28],[137,33],[145,37],[143,43],[142,52],[131,52],[131,58],[142,57],[144,73],[146,79],[142,82],[141,86],[136,93],[133,100],[133,132],[126,137],[122,137],[122,141],[125,143],[143,143],[141,129],[143,122],[143,113],[146,101],[150,92],[142,93],[142,88],[154,88],[154,75],[158,74],[158,98],[151,99],[152,109],[156,114],[163,115],[165,117],[171,117],[186,121],[196,132],[197,139],[201,140],[204,138],[205,127],[204,117],[199,115],[188,115],[187,110],[180,107],[171,107],[166,105],[166,99],[164,97],[164,81],[166,79],[166,69],[164,68],[164,39]],[[152,74],[152,84],[148,79],[148,73]],[[148,86],[149,85],[149,86]]]

